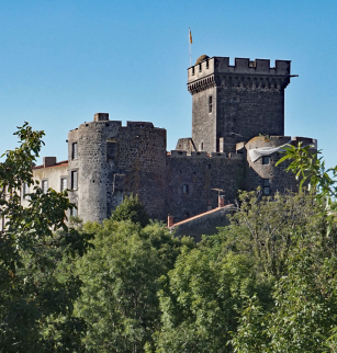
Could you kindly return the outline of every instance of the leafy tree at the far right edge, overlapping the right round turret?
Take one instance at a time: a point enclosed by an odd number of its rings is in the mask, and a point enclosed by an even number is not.
[[[296,213],[303,217],[296,217],[295,227],[290,228],[287,219],[279,225],[279,234],[289,239],[289,244],[274,281],[274,305],[263,310],[257,299],[252,303],[250,298],[232,342],[235,351],[241,353],[334,352],[336,334],[327,337],[337,324],[337,169],[326,170],[322,159],[311,153],[308,147],[290,146],[283,160],[291,160],[288,170],[299,179],[300,194],[293,200]],[[303,185],[312,194],[305,193]],[[310,207],[305,206],[308,198]],[[303,202],[299,203],[300,200]]]

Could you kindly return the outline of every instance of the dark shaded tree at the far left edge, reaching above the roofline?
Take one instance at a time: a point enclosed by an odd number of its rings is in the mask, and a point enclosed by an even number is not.
[[[72,317],[80,281],[70,266],[71,255],[90,244],[66,225],[72,207],[66,193],[43,193],[34,183],[44,133],[25,123],[14,135],[21,145],[0,163],[0,352],[80,351],[85,321]],[[26,208],[20,197],[24,183],[34,186]]]

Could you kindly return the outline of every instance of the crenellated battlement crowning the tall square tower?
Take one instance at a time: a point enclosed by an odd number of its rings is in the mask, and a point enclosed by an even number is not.
[[[249,75],[289,77],[290,60],[276,60],[274,67],[269,59],[235,58],[235,65],[229,65],[229,57],[206,58],[188,69],[188,83],[210,75]]]

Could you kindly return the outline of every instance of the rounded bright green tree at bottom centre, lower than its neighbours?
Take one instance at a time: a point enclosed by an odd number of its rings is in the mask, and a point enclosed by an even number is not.
[[[217,250],[200,246],[183,251],[161,277],[156,352],[232,352],[231,331],[247,296],[268,289],[257,282],[249,258]]]

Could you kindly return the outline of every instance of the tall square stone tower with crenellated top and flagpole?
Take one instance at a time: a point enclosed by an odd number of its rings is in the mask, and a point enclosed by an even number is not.
[[[195,150],[235,151],[254,136],[284,135],[284,89],[290,62],[202,55],[188,69],[192,94],[192,143]]]

